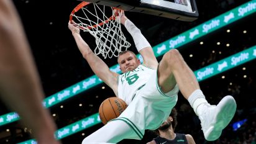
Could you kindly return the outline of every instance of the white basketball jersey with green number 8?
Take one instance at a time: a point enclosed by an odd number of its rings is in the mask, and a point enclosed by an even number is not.
[[[153,71],[156,70],[139,65],[133,71],[120,74],[118,79],[118,97],[129,105],[135,96],[135,92],[147,83]]]

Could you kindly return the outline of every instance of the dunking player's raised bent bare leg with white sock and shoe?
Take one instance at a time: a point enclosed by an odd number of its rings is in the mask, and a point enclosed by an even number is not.
[[[165,53],[160,61],[158,84],[163,92],[168,92],[173,88],[175,81],[183,96],[188,99],[194,112],[199,116],[206,140],[219,138],[222,129],[234,117],[236,109],[234,98],[226,96],[217,106],[209,105],[193,71],[186,65],[178,50],[174,49]]]

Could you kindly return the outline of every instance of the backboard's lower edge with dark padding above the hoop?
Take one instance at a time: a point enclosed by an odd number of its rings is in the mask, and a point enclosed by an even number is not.
[[[80,0],[105,6],[118,7],[124,11],[142,12],[169,19],[191,22],[198,19],[195,0]]]

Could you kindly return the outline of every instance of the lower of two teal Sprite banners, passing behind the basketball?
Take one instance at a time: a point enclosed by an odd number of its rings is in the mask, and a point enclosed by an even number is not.
[[[250,47],[247,50],[243,50],[242,52],[235,53],[227,58],[224,58],[216,63],[205,66],[197,71],[194,71],[196,78],[198,81],[204,81],[205,79],[211,78],[216,74],[223,73],[224,71],[230,70],[231,68],[235,68],[239,65],[247,63],[249,61],[256,59],[256,45],[254,47]],[[247,76],[244,75],[246,78]],[[229,83],[232,85],[232,83]],[[79,120],[78,122],[74,122],[73,124],[66,125],[63,128],[58,129],[55,132],[55,137],[60,140],[62,138],[73,135],[81,130],[85,130],[86,128],[92,127],[93,125],[101,123],[101,119],[99,119],[99,113],[93,114],[85,119]],[[19,144],[33,144],[36,143],[35,139],[27,140],[25,142],[21,142]]]

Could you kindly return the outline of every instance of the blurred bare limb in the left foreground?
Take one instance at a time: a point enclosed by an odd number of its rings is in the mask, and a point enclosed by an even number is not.
[[[0,97],[16,110],[39,144],[57,144],[56,126],[43,109],[43,91],[19,15],[12,1],[0,1]]]

